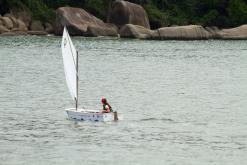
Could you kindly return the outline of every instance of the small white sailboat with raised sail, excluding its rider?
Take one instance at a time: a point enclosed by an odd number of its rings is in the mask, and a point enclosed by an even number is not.
[[[64,72],[70,95],[75,102],[74,108],[66,109],[68,118],[81,121],[116,121],[117,112],[102,113],[99,110],[78,108],[78,52],[72,43],[68,30],[64,27],[62,37],[62,56]]]

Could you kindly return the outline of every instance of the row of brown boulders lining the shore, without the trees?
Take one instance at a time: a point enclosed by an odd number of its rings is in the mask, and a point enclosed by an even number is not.
[[[202,27],[200,25],[170,26],[151,30],[142,6],[116,1],[109,12],[107,23],[80,8],[60,7],[52,23],[32,20],[28,11],[10,10],[0,15],[0,36],[61,35],[64,26],[73,36],[111,36],[153,40],[245,40],[247,24],[231,28]]]

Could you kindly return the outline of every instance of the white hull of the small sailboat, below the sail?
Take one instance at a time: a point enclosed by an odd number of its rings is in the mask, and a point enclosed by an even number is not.
[[[68,117],[70,119],[74,120],[80,120],[80,121],[116,121],[117,118],[117,112],[111,112],[111,113],[101,113],[96,110],[89,110],[89,109],[75,109],[75,108],[69,108],[66,109],[66,112],[68,114]]]

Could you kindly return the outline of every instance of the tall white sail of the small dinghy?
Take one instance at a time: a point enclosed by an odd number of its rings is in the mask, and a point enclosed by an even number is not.
[[[63,30],[61,48],[67,85],[73,100],[77,100],[77,53],[66,27]]]

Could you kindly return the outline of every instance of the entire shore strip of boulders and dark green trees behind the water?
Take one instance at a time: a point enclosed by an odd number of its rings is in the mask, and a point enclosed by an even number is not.
[[[244,0],[0,0],[0,36],[247,39]]]

